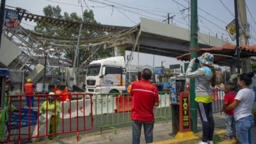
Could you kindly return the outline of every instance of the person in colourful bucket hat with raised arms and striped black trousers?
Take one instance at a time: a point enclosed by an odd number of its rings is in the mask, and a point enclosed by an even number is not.
[[[195,79],[195,100],[198,102],[198,112],[203,125],[203,138],[200,143],[212,144],[214,132],[214,120],[212,116],[212,90],[215,86],[215,70],[213,66],[213,55],[205,52],[202,56],[190,61],[186,77]],[[195,63],[200,63],[200,68],[192,72]]]

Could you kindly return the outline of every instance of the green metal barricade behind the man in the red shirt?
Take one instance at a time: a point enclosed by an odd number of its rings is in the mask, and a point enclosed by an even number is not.
[[[169,92],[159,92],[159,106],[154,109],[156,120],[168,120],[171,116]],[[129,93],[99,93],[93,95],[95,125],[111,128],[131,123],[132,96]]]

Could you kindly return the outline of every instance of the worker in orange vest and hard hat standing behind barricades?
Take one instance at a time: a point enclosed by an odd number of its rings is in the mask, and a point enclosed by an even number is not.
[[[26,96],[26,106],[31,106],[34,107],[34,85],[31,82],[31,79],[27,79],[27,83],[24,85],[24,89],[25,89],[25,95]],[[29,104],[30,102],[30,104]]]

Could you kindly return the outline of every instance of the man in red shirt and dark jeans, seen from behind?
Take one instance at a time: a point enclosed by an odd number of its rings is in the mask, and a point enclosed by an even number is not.
[[[150,69],[145,68],[141,81],[132,83],[130,95],[132,99],[132,144],[140,143],[141,126],[143,124],[146,143],[153,142],[154,106],[159,106],[158,90],[149,82],[152,76]]]

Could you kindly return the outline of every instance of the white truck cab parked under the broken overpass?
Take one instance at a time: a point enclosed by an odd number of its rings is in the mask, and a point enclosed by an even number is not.
[[[118,93],[125,91],[125,60],[123,56],[92,61],[87,67],[86,92]]]

